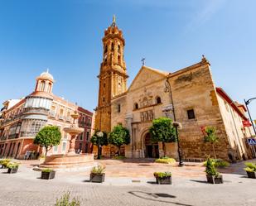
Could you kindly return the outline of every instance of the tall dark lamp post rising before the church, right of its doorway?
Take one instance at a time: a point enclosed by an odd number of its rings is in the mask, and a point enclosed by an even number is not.
[[[179,138],[179,132],[178,132],[178,127],[181,127],[181,123],[176,122],[176,115],[175,115],[175,110],[174,110],[174,106],[173,106],[173,98],[172,98],[172,93],[171,93],[171,84],[169,83],[168,79],[166,80],[165,83],[165,89],[164,92],[165,93],[169,93],[170,94],[170,98],[171,98],[171,108],[169,108],[168,110],[165,109],[163,110],[163,112],[166,112],[167,115],[167,111],[171,110],[173,113],[173,127],[175,127],[175,132],[176,132],[176,138],[177,138],[177,146],[178,146],[178,156],[179,156],[179,166],[183,166],[183,162],[182,162],[182,152],[181,152],[181,146],[180,146],[180,138]]]

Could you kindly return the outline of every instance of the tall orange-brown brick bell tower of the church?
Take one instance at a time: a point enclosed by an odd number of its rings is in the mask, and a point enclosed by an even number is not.
[[[126,65],[123,60],[125,41],[116,19],[104,31],[103,59],[99,71],[99,96],[96,108],[95,129],[111,131],[111,99],[127,90]]]

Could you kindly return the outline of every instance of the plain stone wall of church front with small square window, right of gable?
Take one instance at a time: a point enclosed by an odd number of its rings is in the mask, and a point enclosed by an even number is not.
[[[210,74],[210,64],[202,61],[169,75],[181,150],[185,159],[204,159],[213,156],[210,143],[204,142],[201,127],[213,126],[220,141],[215,145],[218,158],[228,159],[229,141],[220,113],[215,84]],[[187,110],[193,109],[196,118],[189,119]]]

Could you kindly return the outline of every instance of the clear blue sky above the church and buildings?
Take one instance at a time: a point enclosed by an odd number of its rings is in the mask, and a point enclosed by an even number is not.
[[[0,0],[0,102],[31,93],[46,68],[54,93],[97,105],[104,29],[117,17],[129,83],[146,65],[175,71],[210,60],[215,84],[256,97],[254,0]],[[249,105],[256,119],[256,100]]]

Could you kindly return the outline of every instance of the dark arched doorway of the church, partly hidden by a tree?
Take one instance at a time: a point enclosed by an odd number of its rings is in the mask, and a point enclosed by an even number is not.
[[[159,149],[158,149],[158,143],[152,142],[152,139],[150,137],[150,133],[147,132],[145,135],[145,157],[146,158],[159,158]]]

